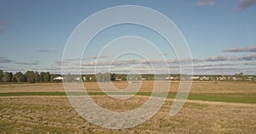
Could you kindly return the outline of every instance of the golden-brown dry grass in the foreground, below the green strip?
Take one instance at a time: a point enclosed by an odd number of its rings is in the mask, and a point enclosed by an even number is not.
[[[102,107],[119,111],[134,103],[110,98],[94,97]],[[104,100],[104,101],[102,101]],[[108,103],[104,103],[108,102]],[[236,103],[186,103],[175,116],[169,116],[172,99],[166,100],[153,118],[139,126],[124,130],[110,130],[84,120],[69,105],[65,97],[9,97],[0,98],[0,132],[94,132],[94,133],[253,133],[256,128],[256,106]]]

